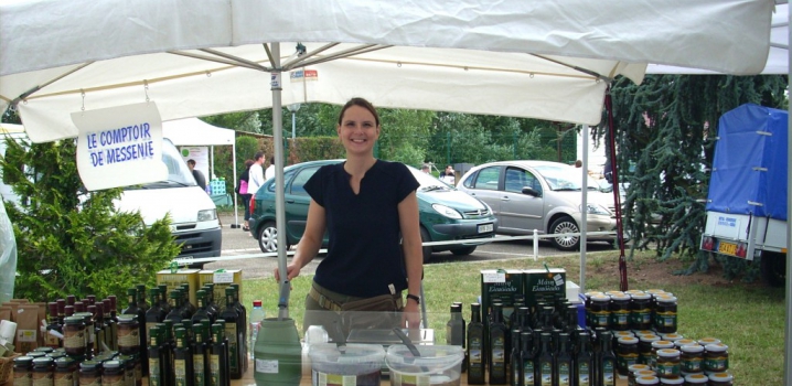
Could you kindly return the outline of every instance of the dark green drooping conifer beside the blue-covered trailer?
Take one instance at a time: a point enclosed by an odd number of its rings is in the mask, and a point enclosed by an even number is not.
[[[633,248],[653,240],[662,258],[698,254],[718,118],[745,103],[784,108],[785,88],[784,76],[727,75],[649,75],[641,85],[621,78],[611,86]],[[699,256],[692,270],[706,260]]]

